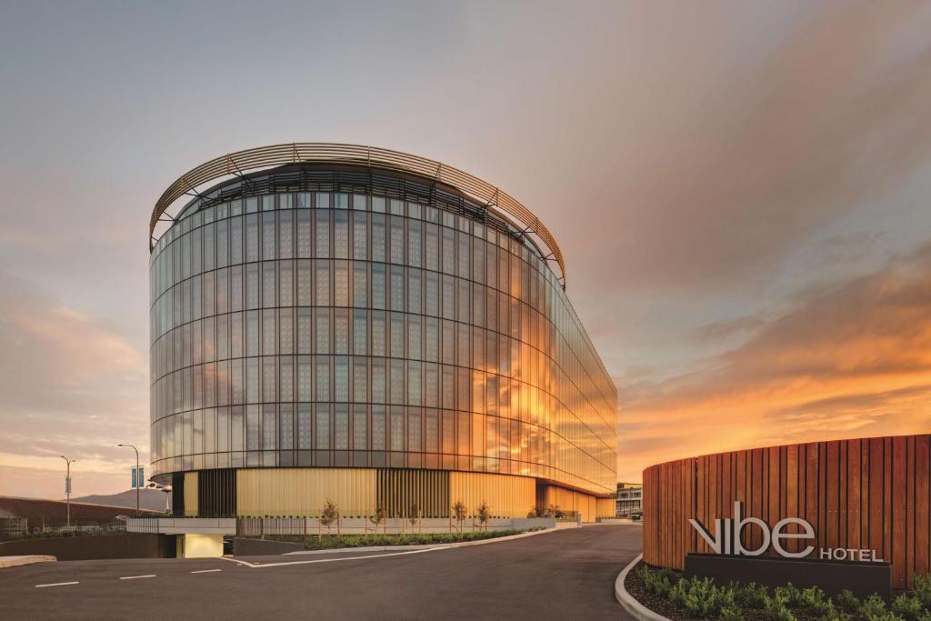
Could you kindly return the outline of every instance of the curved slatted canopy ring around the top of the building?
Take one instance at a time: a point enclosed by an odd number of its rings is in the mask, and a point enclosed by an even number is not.
[[[521,233],[525,235],[532,234],[536,239],[542,241],[543,247],[549,251],[549,254],[545,257],[546,260],[559,263],[561,280],[563,286],[565,286],[566,265],[562,259],[559,244],[556,243],[556,239],[544,223],[540,222],[540,219],[533,214],[533,211],[521,205],[515,198],[494,187],[491,183],[483,182],[474,175],[432,159],[358,144],[329,142],[273,144],[221,155],[188,170],[175,182],[171,183],[165,193],[158,198],[158,202],[155,203],[155,209],[152,210],[152,218],[149,221],[149,250],[152,250],[155,245],[155,225],[162,219],[162,215],[178,198],[187,194],[197,196],[196,187],[229,175],[241,176],[247,170],[303,162],[338,162],[392,169],[411,172],[451,185],[467,196],[485,203],[490,209],[506,213],[515,218],[518,223],[525,227]]]

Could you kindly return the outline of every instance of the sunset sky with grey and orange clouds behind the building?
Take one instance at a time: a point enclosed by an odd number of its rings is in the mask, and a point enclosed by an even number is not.
[[[148,454],[147,223],[277,142],[500,185],[566,258],[618,477],[931,431],[931,5],[0,0],[0,494]]]

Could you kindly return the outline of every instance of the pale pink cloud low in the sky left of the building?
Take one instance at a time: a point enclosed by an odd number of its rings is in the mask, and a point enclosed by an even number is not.
[[[144,461],[147,361],[125,337],[0,272],[0,351],[0,466],[34,475],[0,477],[0,493],[36,495],[36,473],[60,479],[62,453],[111,483],[134,459],[116,443]]]

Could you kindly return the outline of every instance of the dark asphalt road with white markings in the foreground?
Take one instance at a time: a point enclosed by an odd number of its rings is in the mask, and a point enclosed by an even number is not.
[[[629,618],[614,578],[640,549],[640,526],[589,526],[400,554],[46,562],[0,570],[0,618]]]

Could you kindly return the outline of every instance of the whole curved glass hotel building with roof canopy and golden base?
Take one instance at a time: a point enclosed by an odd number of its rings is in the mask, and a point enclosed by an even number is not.
[[[504,192],[277,145],[190,170],[150,234],[151,460],[176,513],[614,515],[616,389],[555,239]]]

